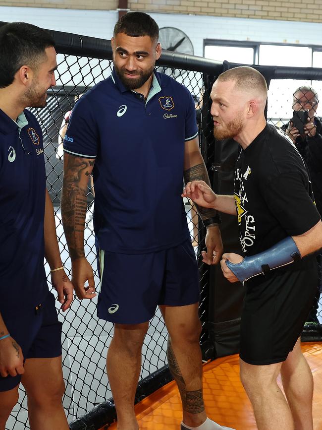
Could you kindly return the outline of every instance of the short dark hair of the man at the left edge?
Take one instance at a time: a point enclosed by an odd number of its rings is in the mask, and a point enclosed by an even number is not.
[[[54,46],[48,31],[36,25],[11,22],[0,27],[0,88],[12,84],[22,65],[37,67],[45,49]]]

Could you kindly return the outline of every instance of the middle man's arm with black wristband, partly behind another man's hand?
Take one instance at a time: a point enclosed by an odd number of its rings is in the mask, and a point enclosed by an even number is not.
[[[205,181],[210,186],[208,172],[199,150],[198,138],[189,140],[185,143],[183,170],[183,179],[185,184],[192,181]],[[187,194],[186,196],[189,197]],[[209,207],[198,205],[196,205],[196,207],[201,219],[204,222],[209,222],[206,234],[207,252],[202,251],[203,261],[209,265],[217,264],[223,251],[218,223],[216,220],[212,220],[212,218],[217,216],[217,212],[215,209]]]

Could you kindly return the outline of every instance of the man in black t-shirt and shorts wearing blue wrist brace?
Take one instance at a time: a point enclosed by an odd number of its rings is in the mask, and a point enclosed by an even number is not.
[[[300,334],[316,291],[309,254],[322,247],[322,223],[306,165],[291,140],[267,124],[267,85],[254,68],[222,73],[211,98],[215,138],[241,146],[235,193],[216,195],[193,181],[182,195],[238,218],[244,255],[223,254],[220,264],[230,282],[246,287],[240,375],[258,429],[313,430],[313,379]]]

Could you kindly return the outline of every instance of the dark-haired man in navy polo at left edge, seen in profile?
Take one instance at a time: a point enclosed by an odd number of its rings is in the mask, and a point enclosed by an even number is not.
[[[69,429],[61,404],[61,323],[44,256],[63,311],[73,287],[46,190],[42,131],[25,109],[46,106],[56,67],[54,40],[46,31],[25,23],[0,27],[0,430],[18,400],[20,380],[30,428]]]

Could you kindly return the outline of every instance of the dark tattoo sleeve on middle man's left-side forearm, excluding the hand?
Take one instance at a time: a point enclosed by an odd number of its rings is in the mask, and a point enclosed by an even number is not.
[[[85,188],[82,188],[80,180],[82,174],[88,174],[89,166],[93,165],[94,161],[70,156],[64,172],[61,191],[61,213],[72,261],[85,255],[84,226],[87,209],[87,184]]]

